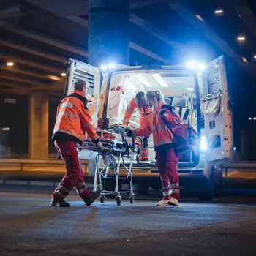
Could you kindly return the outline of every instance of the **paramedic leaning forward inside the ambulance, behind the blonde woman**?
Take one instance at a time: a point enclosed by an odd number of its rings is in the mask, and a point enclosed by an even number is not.
[[[139,127],[140,129],[143,129],[146,127],[146,120],[148,116],[152,113],[151,107],[146,102],[146,97],[143,91],[140,91],[136,94],[135,98],[129,102],[127,105],[127,111],[124,115],[123,124],[128,125],[129,119],[132,117],[132,114],[134,113],[135,109],[138,108],[140,111],[139,116]],[[140,148],[140,159],[141,161],[147,161],[148,160],[148,136],[145,136],[143,138],[143,147]]]

